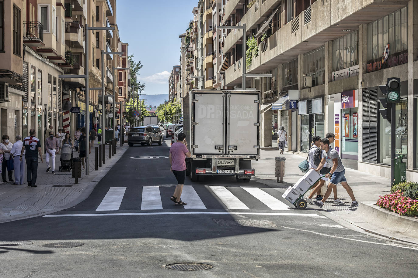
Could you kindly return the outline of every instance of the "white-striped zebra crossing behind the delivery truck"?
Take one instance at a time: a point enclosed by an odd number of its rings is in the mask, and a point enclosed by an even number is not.
[[[201,187],[201,186],[199,186]],[[165,187],[166,188],[166,187]],[[174,188],[174,187],[172,187]],[[138,201],[138,210],[163,210],[173,208],[173,203],[167,203],[170,196],[161,194],[161,187],[143,186],[140,202]],[[187,203],[184,205],[185,210],[189,209],[207,209],[210,200],[214,200],[214,196],[218,202],[212,202],[211,208],[226,208],[228,210],[250,210],[250,209],[268,209],[271,210],[288,210],[288,204],[278,199],[281,193],[272,188],[257,187],[225,187],[206,185],[205,190],[199,190],[200,196],[193,185],[184,185],[181,199]],[[171,189],[170,189],[171,190]],[[267,192],[268,190],[269,193]],[[111,187],[102,199],[96,211],[121,210],[121,204],[126,194],[126,187]],[[274,196],[273,196],[274,195]],[[216,199],[215,198],[215,199]],[[284,201],[285,202],[285,201]],[[247,203],[247,204],[246,204]],[[251,205],[249,205],[251,204]]]

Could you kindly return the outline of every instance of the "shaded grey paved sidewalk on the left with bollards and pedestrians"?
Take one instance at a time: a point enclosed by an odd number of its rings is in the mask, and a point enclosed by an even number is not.
[[[127,144],[121,147],[119,143],[117,143],[116,154],[111,159],[109,159],[109,144],[105,145],[105,164],[95,171],[94,147],[98,147],[96,142],[89,155],[90,175],[85,175],[85,171],[82,171],[82,177],[79,178],[77,184],[74,184],[74,178],[71,178],[72,170],[59,171],[60,155],[56,155],[55,174],[52,174],[52,168],[46,173],[45,155],[43,155],[43,163],[39,160],[36,181],[38,187],[28,187],[25,165],[25,184],[14,185],[11,182],[0,184],[0,223],[54,213],[86,199],[97,182],[127,150]],[[74,152],[73,157],[79,157],[79,153]]]

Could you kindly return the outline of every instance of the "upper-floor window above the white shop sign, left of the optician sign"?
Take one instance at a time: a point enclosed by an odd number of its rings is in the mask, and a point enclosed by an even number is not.
[[[342,70],[359,63],[359,31],[332,41],[332,70]]]

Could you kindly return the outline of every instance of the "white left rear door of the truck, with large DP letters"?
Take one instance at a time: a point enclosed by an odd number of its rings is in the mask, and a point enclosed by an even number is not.
[[[224,107],[223,93],[195,93],[193,100],[194,154],[224,153]]]

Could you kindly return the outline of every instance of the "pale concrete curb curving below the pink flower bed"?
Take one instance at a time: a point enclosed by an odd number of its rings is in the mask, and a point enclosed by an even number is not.
[[[342,219],[369,233],[418,244],[418,219],[398,215],[373,202],[359,202],[359,208]]]

